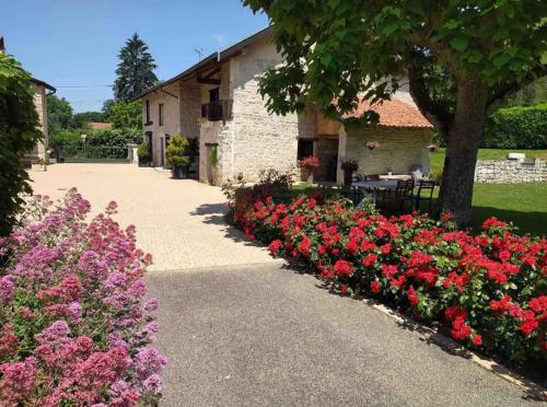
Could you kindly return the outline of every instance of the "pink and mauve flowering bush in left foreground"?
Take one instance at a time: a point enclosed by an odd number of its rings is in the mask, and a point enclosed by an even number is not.
[[[144,301],[151,256],[75,189],[54,207],[36,197],[24,225],[0,240],[2,405],[156,405],[165,358],[158,302]]]

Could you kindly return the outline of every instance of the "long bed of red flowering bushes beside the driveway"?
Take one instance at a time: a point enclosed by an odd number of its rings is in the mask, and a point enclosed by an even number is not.
[[[516,362],[546,358],[546,239],[517,235],[496,218],[474,236],[447,214],[385,218],[318,196],[290,203],[246,196],[234,208],[247,236],[311,266],[341,293],[406,309]]]

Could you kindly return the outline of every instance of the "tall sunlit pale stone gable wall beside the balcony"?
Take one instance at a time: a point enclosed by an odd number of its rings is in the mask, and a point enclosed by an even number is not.
[[[281,61],[267,40],[254,44],[232,60],[233,120],[219,135],[222,181],[242,173],[253,182],[263,170],[287,172],[296,166],[298,115],[270,115],[258,93],[259,75]]]

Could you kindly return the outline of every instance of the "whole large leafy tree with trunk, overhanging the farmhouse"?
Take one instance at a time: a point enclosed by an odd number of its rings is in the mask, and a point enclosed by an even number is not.
[[[470,220],[487,111],[546,72],[545,1],[243,2],[266,12],[286,59],[260,83],[271,112],[313,102],[340,117],[361,97],[389,98],[408,78],[418,108],[446,140],[441,206]]]

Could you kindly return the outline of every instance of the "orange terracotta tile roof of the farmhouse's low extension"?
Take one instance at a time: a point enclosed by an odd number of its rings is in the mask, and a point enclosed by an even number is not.
[[[361,101],[358,108],[342,117],[360,117],[366,111],[374,111],[380,115],[380,126],[384,127],[417,127],[433,128],[433,125],[423,117],[417,107],[408,103],[391,100],[371,105],[368,101]]]

